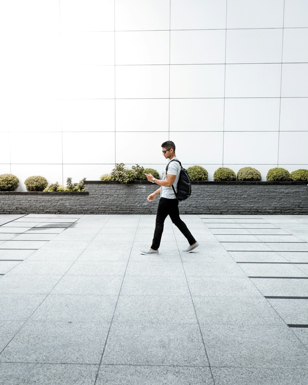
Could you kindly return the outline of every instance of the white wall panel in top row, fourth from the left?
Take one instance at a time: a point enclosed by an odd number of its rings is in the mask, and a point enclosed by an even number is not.
[[[226,28],[226,0],[171,0],[171,29]]]

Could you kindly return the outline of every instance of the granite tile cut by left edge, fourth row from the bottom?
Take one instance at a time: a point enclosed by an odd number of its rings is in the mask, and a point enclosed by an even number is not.
[[[48,294],[61,275],[4,275],[0,279],[0,294]]]

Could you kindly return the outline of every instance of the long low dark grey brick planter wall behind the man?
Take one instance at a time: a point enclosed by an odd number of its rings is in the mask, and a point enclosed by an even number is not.
[[[0,214],[156,214],[149,182],[86,181],[85,192],[0,192]],[[306,182],[193,182],[181,214],[308,214]]]

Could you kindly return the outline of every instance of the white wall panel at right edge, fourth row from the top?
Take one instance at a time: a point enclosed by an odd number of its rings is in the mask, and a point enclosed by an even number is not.
[[[308,131],[308,98],[281,98],[280,131]]]

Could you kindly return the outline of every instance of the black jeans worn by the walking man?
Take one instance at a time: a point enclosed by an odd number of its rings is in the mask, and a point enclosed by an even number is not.
[[[162,231],[164,230],[164,221],[169,215],[172,223],[176,225],[181,233],[187,238],[189,244],[196,242],[196,239],[191,235],[191,232],[187,229],[186,224],[182,221],[179,215],[179,201],[177,199],[159,199],[157,215],[156,215],[156,226],[154,231],[154,238],[151,249],[157,250],[161,244]]]

